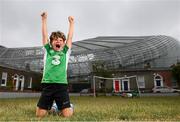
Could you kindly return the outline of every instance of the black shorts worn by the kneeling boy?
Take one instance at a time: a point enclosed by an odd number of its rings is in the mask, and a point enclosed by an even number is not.
[[[66,84],[42,83],[42,93],[37,106],[41,109],[50,110],[55,101],[58,109],[70,107],[69,93]]]

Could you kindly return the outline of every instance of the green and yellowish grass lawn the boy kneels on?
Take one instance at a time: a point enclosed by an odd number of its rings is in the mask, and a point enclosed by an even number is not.
[[[37,121],[38,98],[0,99],[0,121]],[[180,121],[180,96],[71,97],[71,118],[48,115],[42,121]]]

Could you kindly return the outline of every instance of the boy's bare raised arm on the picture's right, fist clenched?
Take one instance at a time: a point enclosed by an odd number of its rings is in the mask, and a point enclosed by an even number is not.
[[[74,18],[72,16],[69,16],[68,20],[69,20],[69,32],[67,35],[66,44],[69,48],[71,48],[72,47],[72,37],[73,37],[73,33],[74,33]]]

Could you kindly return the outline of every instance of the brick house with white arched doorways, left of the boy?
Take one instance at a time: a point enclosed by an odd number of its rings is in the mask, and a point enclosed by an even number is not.
[[[42,74],[0,65],[0,91],[38,91]]]

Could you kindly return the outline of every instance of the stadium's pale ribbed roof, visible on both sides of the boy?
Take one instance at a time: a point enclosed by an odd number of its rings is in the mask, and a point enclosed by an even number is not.
[[[121,48],[126,47],[131,44],[135,44],[137,42],[146,43],[148,40],[170,38],[164,35],[158,36],[100,36],[96,38],[89,38],[81,41],[73,42],[72,46],[72,53],[73,54],[81,54],[81,53],[88,53],[94,52],[98,50],[107,50],[113,48]],[[139,44],[139,43],[138,43]],[[40,49],[39,47],[23,47],[23,48],[6,48],[0,45],[1,54],[4,51],[16,51],[19,50],[20,53],[23,53],[24,50],[32,50],[32,49]],[[8,50],[7,50],[8,49]],[[1,58],[0,54],[0,58]],[[10,56],[11,57],[11,56]]]

